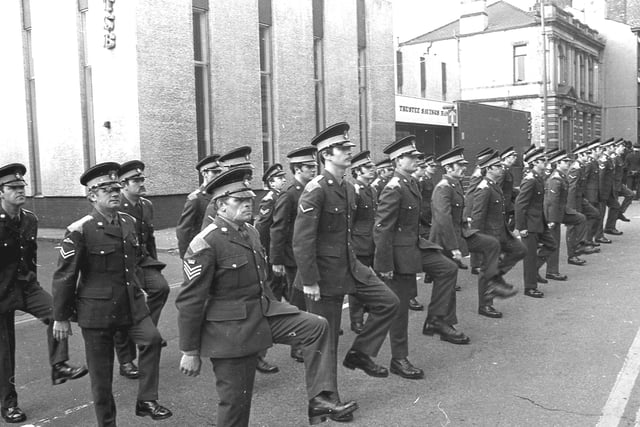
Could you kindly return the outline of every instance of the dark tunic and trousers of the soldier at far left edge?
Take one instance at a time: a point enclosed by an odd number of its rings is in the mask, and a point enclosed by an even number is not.
[[[51,295],[40,287],[36,271],[38,219],[26,209],[11,218],[0,206],[0,406],[18,406],[15,388],[15,311],[48,324],[49,363],[68,359],[67,340],[53,339]]]

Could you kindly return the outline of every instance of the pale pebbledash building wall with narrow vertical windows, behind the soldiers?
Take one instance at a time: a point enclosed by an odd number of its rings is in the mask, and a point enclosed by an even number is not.
[[[356,150],[381,157],[395,136],[391,0],[14,0],[5,5],[0,27],[0,164],[27,165],[33,196],[27,208],[40,226],[62,228],[89,210],[79,177],[103,161],[145,162],[156,228],[175,225],[185,195],[198,185],[194,165],[205,153],[251,146],[253,185],[261,188],[259,19],[265,3],[271,11],[270,160],[286,165],[286,154],[317,133],[314,8],[316,15],[322,11],[324,125],[349,122]],[[205,8],[208,33],[209,128],[200,154],[194,7]]]

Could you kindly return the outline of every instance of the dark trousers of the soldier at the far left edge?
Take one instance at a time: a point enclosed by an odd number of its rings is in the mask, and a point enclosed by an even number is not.
[[[17,291],[21,288],[18,285]],[[68,357],[68,341],[56,341],[53,338],[53,301],[51,295],[38,288],[23,297],[23,306],[17,307],[25,313],[42,320],[47,324],[47,344],[49,347],[49,364],[66,362]],[[16,331],[15,311],[0,313],[0,406],[10,408],[18,405],[18,394],[15,387],[16,368]]]

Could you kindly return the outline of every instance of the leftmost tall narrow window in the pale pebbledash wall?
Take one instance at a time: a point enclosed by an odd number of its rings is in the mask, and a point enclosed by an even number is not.
[[[22,43],[25,57],[24,77],[27,95],[27,131],[29,138],[29,171],[32,194],[42,194],[40,179],[40,146],[38,141],[38,121],[36,115],[36,76],[31,42],[31,1],[22,0]]]

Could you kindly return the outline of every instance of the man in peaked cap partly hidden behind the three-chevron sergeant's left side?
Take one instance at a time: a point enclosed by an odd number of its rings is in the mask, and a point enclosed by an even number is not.
[[[182,209],[182,214],[176,226],[176,237],[178,238],[178,252],[180,258],[184,257],[189,242],[200,232],[202,220],[205,216],[207,206],[211,201],[205,193],[204,187],[213,178],[222,173],[222,166],[218,162],[219,154],[212,154],[200,160],[196,165],[196,170],[202,175],[202,185],[187,196],[187,201]]]

